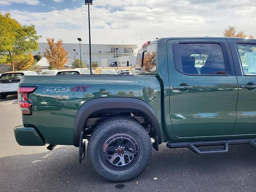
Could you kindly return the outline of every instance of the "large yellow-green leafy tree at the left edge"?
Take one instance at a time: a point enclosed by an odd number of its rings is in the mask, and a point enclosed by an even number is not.
[[[0,62],[11,64],[14,70],[14,63],[18,63],[26,53],[38,49],[38,39],[34,25],[21,25],[11,18],[9,13],[0,12]]]

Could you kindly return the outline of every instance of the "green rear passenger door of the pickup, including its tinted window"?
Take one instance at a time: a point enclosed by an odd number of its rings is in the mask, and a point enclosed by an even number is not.
[[[229,135],[237,79],[226,39],[167,41],[170,118],[179,137]]]

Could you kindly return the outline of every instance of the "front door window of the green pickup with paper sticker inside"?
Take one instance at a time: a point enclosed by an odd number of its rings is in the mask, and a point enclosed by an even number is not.
[[[256,75],[256,45],[237,44],[243,73],[245,75]]]

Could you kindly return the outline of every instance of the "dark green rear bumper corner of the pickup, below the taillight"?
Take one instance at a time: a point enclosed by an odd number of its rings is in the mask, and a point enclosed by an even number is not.
[[[19,145],[22,146],[44,146],[45,142],[32,127],[16,126],[14,136]]]

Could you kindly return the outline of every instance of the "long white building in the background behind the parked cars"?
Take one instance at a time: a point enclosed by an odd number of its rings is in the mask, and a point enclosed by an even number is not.
[[[63,43],[65,50],[69,52],[69,63],[74,61],[74,58],[80,59],[79,43]],[[38,50],[33,51],[33,55],[41,55],[45,48],[49,48],[47,43],[38,43]],[[118,48],[116,53],[116,48]],[[116,44],[91,44],[92,63],[96,62],[100,67],[107,66],[107,63],[117,63],[118,66],[135,65],[134,50],[138,48],[137,45],[116,45]],[[76,51],[74,51],[76,50]],[[116,58],[116,55],[118,58]],[[123,57],[122,57],[123,56]],[[81,60],[88,66],[89,60],[89,44],[81,44]]]

